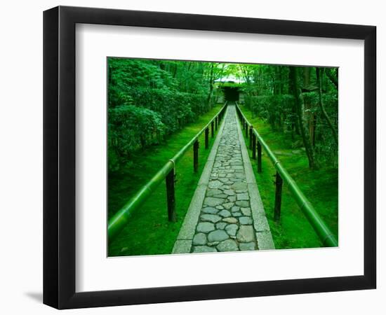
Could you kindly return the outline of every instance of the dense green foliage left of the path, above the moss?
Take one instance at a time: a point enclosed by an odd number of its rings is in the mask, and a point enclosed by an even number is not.
[[[109,171],[213,106],[211,63],[108,59]]]

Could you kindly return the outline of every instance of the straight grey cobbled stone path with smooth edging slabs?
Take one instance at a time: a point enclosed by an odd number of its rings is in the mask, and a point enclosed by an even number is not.
[[[173,253],[274,248],[234,106],[217,137]]]

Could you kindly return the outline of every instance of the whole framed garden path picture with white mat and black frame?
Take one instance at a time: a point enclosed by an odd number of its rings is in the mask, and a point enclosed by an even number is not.
[[[44,12],[44,303],[375,288],[376,28]]]

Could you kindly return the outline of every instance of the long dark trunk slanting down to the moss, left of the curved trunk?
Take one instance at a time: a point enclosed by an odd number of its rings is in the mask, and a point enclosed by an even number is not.
[[[305,152],[307,153],[308,157],[308,165],[310,166],[310,169],[316,169],[317,165],[315,162],[314,148],[312,148],[310,144],[310,137],[308,135],[307,128],[305,127],[304,104],[298,85],[298,68],[295,66],[290,66],[289,71],[290,83],[292,87],[291,92],[295,98],[295,109],[296,113],[298,114],[300,134],[302,135]]]

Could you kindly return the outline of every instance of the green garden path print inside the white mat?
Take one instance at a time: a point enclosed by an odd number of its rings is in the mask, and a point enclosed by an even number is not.
[[[338,246],[338,68],[107,69],[109,257]]]

